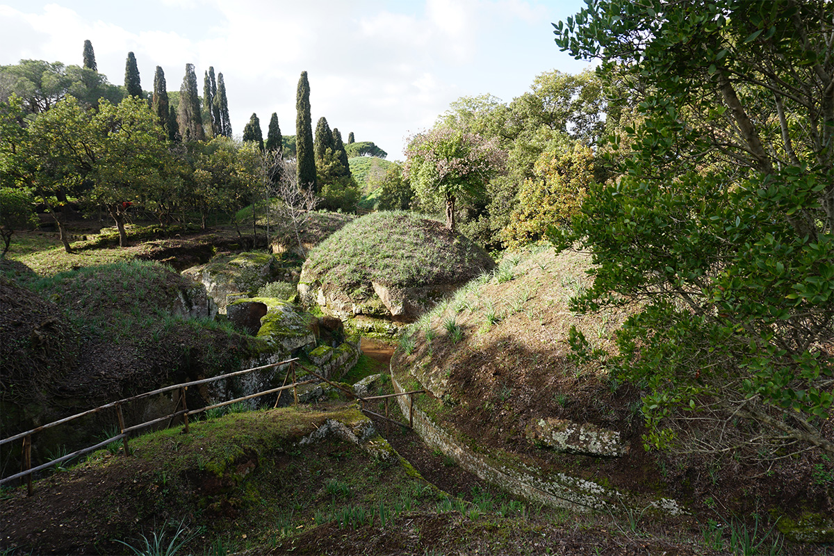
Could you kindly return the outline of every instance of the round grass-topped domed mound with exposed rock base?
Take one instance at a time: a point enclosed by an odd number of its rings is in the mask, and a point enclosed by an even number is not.
[[[380,314],[387,309],[396,316],[392,303],[425,307],[437,300],[437,293],[409,298],[408,290],[440,288],[440,293],[448,293],[494,266],[483,249],[436,220],[412,213],[372,213],[310,252],[300,282],[308,293],[320,289],[328,307],[337,311],[342,307],[344,312],[347,305],[375,304]],[[404,293],[405,299],[394,293],[391,303],[380,300],[380,287]]]

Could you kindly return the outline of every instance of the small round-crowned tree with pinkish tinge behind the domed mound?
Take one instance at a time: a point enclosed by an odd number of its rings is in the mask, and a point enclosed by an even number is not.
[[[433,128],[409,139],[405,173],[421,203],[442,201],[446,227],[455,230],[458,198],[480,198],[486,183],[505,168],[495,139],[451,128]]]

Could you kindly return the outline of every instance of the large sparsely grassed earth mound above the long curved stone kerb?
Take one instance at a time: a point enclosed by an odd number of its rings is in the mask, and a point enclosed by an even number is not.
[[[590,286],[589,264],[585,255],[555,255],[552,249],[506,257],[491,277],[461,288],[409,328],[392,358],[392,376],[407,390],[430,390],[415,406],[473,453],[614,489],[626,495],[625,503],[638,501],[633,515],[642,515],[649,500],[675,499],[695,517],[686,527],[714,538],[718,551],[729,550],[730,529],[715,523],[746,523],[752,532],[755,520],[770,512],[769,525],[758,524],[761,539],[776,518],[787,523],[807,513],[831,515],[834,483],[830,463],[819,453],[757,463],[701,445],[691,446],[691,453],[646,452],[640,385],[571,355],[571,325],[590,348],[610,353],[630,313],[628,306],[570,311],[570,298]],[[697,414],[689,417],[697,427]],[[614,431],[628,451],[592,455],[578,438],[552,443],[542,423]],[[643,511],[658,523],[669,518],[653,508]],[[710,525],[708,519],[716,521]]]

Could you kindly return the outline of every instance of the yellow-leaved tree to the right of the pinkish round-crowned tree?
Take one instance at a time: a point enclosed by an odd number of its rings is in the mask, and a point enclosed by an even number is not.
[[[535,163],[535,178],[522,184],[518,208],[501,232],[506,246],[539,241],[549,228],[570,223],[594,182],[590,147],[573,143],[542,153]]]

